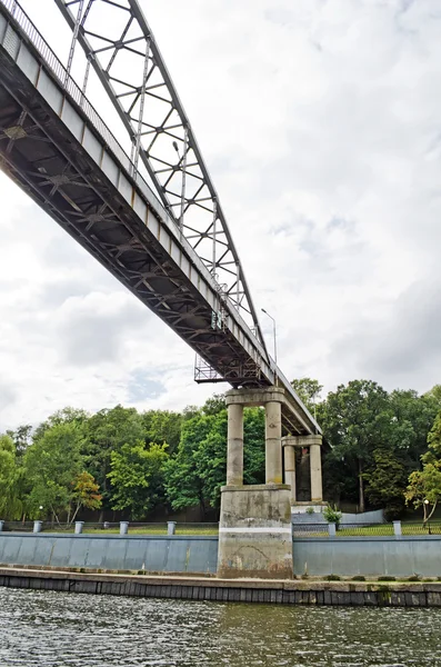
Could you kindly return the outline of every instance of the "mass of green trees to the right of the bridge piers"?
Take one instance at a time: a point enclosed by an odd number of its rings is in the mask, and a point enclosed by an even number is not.
[[[320,400],[317,380],[292,384],[332,447],[323,465],[328,500],[352,500],[359,511],[369,502],[384,508],[389,520],[405,502],[434,511],[441,498],[440,385],[419,395],[352,380]]]

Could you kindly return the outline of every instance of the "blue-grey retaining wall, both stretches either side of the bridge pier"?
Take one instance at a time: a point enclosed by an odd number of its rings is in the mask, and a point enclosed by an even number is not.
[[[293,540],[294,574],[441,577],[441,536]],[[0,564],[214,575],[217,536],[0,532]]]

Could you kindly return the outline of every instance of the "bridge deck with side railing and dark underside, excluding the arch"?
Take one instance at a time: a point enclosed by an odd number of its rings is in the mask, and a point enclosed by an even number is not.
[[[233,387],[274,365],[62,63],[0,0],[0,166]],[[278,372],[289,432],[320,429]]]

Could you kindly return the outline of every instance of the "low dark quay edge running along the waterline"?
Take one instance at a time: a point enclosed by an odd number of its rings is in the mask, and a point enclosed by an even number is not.
[[[217,579],[0,568],[0,586],[143,598],[370,607],[441,607],[441,581]]]

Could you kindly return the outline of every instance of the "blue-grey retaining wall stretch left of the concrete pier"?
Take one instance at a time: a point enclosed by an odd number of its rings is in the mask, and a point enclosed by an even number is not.
[[[0,532],[0,563],[216,574],[218,537]]]

